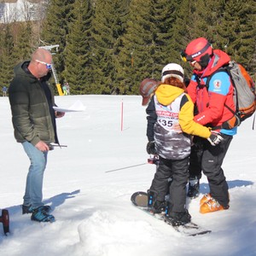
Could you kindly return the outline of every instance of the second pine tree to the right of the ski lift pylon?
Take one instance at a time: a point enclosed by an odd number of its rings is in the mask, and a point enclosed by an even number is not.
[[[119,93],[117,69],[120,38],[125,32],[127,3],[123,0],[96,1],[91,44],[92,90],[96,93]]]

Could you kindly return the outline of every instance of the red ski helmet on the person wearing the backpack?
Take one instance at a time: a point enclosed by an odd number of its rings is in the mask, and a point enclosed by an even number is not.
[[[196,38],[187,45],[183,58],[185,58],[186,61],[199,62],[204,55],[212,55],[212,45],[206,38]]]

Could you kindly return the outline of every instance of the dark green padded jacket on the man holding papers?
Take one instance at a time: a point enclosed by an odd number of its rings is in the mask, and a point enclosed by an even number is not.
[[[49,104],[40,81],[22,69],[23,65],[27,67],[28,64],[29,61],[25,61],[15,67],[15,78],[9,86],[15,139],[18,143],[27,141],[34,146],[39,141],[55,143],[55,129],[49,113]],[[49,77],[50,74],[43,78],[47,84]],[[52,89],[50,90],[54,102],[54,94]]]

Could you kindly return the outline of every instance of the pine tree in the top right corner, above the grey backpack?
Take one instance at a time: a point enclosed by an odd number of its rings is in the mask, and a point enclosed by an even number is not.
[[[255,72],[256,3],[230,0],[225,3],[223,22],[217,26],[222,49],[240,62],[249,73]]]

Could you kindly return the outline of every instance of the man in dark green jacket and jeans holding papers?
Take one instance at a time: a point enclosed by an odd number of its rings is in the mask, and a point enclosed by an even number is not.
[[[15,139],[22,146],[31,161],[26,177],[26,191],[23,197],[22,214],[32,213],[32,220],[52,222],[50,207],[44,206],[43,178],[50,143],[59,143],[55,118],[54,94],[49,87],[52,56],[47,49],[36,49],[31,61],[24,61],[15,67],[15,78],[9,86],[9,102]]]

